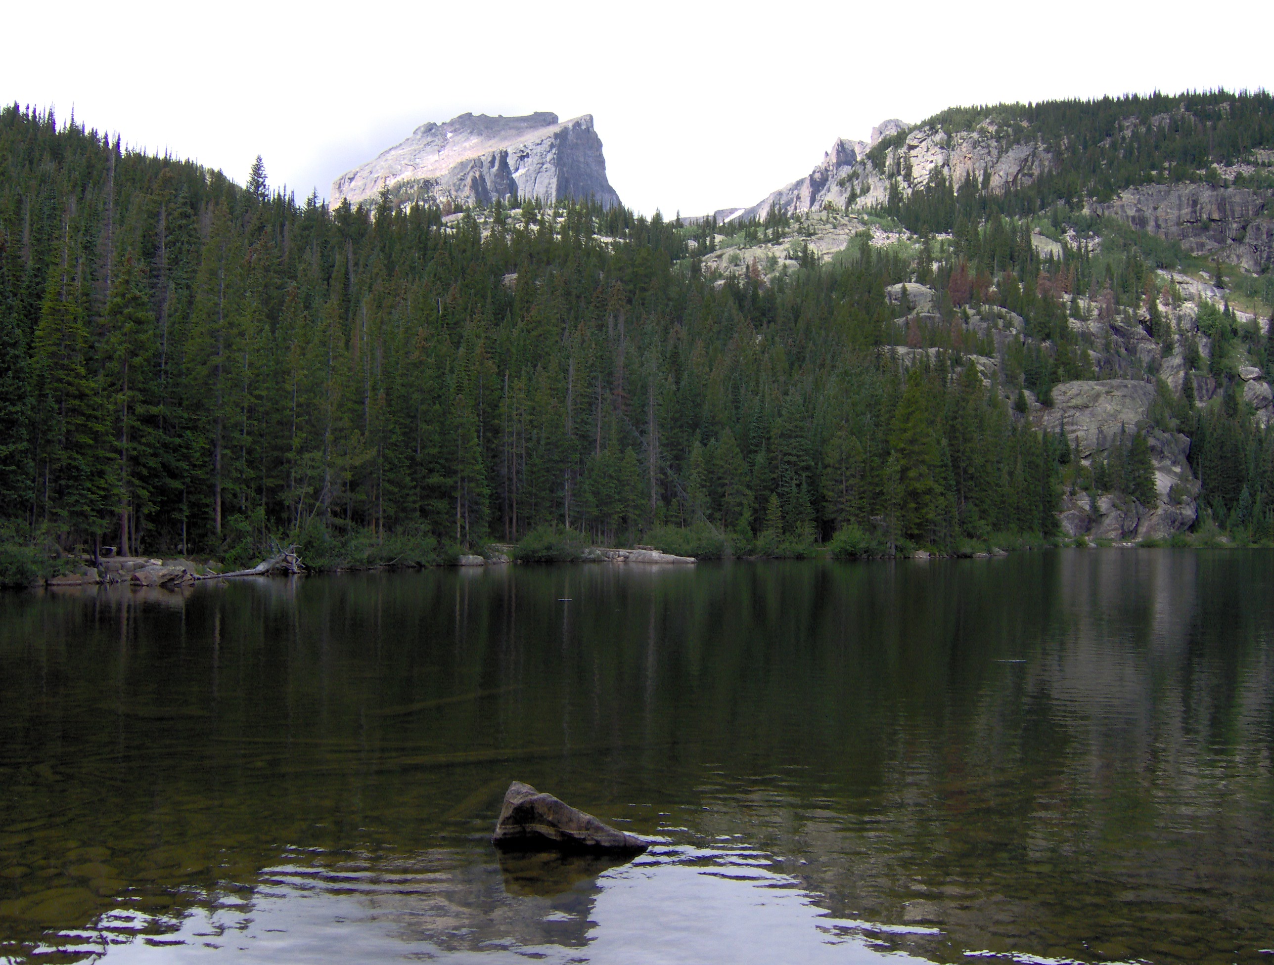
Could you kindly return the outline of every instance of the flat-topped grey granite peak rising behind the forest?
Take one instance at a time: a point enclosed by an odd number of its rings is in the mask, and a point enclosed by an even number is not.
[[[521,197],[619,204],[591,115],[559,122],[554,113],[464,113],[423,123],[401,144],[336,178],[331,204],[372,202],[382,188],[394,204],[485,205]]]

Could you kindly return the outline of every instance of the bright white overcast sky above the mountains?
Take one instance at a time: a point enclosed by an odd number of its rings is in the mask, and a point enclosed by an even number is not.
[[[1274,87],[1274,3],[25,3],[0,99],[327,196],[424,121],[591,113],[640,211],[752,204],[838,136],[996,101]],[[24,38],[24,39],[23,39]]]

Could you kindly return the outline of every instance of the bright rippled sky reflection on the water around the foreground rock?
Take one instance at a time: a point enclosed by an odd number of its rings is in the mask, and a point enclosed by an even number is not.
[[[168,923],[162,937],[136,941],[139,932],[163,923],[115,912],[97,931],[80,933],[79,942],[45,951],[92,952],[110,962],[231,954],[242,962],[530,957],[562,965],[817,965],[882,962],[885,950],[877,936],[938,933],[832,918],[798,878],[771,870],[772,861],[738,847],[665,844],[605,870],[596,861],[553,856],[515,857],[498,868],[456,875],[413,871],[445,866],[446,856],[423,856],[396,873],[280,864],[262,872],[250,900],[222,896],[196,905]],[[889,960],[919,961],[897,952]]]

